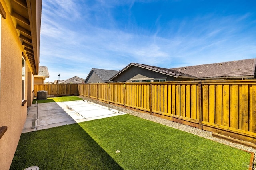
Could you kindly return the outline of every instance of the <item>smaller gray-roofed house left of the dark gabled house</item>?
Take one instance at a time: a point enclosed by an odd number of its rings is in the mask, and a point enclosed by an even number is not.
[[[118,71],[115,70],[103,70],[92,68],[86,79],[84,80],[85,83],[107,83],[112,82],[109,79],[117,74]]]

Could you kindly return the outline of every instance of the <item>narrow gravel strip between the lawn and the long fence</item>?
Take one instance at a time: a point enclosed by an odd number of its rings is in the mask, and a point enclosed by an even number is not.
[[[167,120],[167,119],[163,119],[161,117],[156,117],[156,116],[153,116],[153,115],[150,115],[150,114],[140,113],[138,111],[133,111],[133,110],[130,110],[130,109],[125,109],[123,107],[114,106],[112,104],[107,104],[107,103],[104,103],[104,102],[100,102],[100,101],[88,98],[86,96],[81,96],[80,95],[79,97],[84,99],[84,100],[88,100],[89,102],[100,104],[102,106],[106,106],[106,107],[109,107],[111,109],[119,110],[119,111],[122,111],[122,112],[130,114],[130,115],[141,117],[141,118],[146,119],[146,120],[154,121],[154,122],[157,122],[157,123],[169,126],[169,127],[173,127],[175,129],[179,129],[179,130],[182,130],[182,131],[185,131],[185,132],[188,132],[188,133],[192,133],[194,135],[198,135],[200,137],[204,137],[204,138],[207,138],[207,139],[219,142],[219,143],[223,143],[223,144],[229,145],[231,147],[235,147],[235,148],[238,148],[238,149],[243,149],[243,150],[247,150],[247,151],[250,151],[250,152],[254,152],[254,165],[256,165],[256,149],[254,149],[252,147],[247,147],[247,146],[244,146],[244,145],[241,145],[241,144],[238,144],[238,143],[233,143],[233,142],[230,142],[230,141],[226,141],[224,139],[219,139],[217,137],[212,137],[212,132],[204,131],[204,130],[200,130],[200,129],[192,127],[192,126],[176,123],[176,122],[173,122],[173,121],[170,121],[170,120]],[[253,167],[253,170],[256,170],[256,166]]]

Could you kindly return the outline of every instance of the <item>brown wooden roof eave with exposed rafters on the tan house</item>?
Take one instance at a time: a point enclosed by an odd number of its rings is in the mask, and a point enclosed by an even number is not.
[[[32,72],[39,71],[42,0],[10,0],[10,14]]]

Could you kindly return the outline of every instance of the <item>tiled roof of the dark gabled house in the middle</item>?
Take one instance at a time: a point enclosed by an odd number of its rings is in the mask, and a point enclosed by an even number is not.
[[[189,77],[189,78],[194,78],[194,76],[186,74],[184,72],[179,72],[176,70],[172,70],[172,69],[168,69],[168,68],[161,68],[161,67],[156,67],[156,66],[150,66],[150,65],[145,65],[145,64],[139,64],[139,63],[130,63],[128,64],[126,67],[124,67],[120,72],[118,72],[116,75],[114,75],[112,78],[110,78],[110,80],[112,80],[114,77],[118,76],[118,74],[122,73],[124,70],[126,70],[127,68],[129,68],[130,66],[140,66],[149,70],[153,70],[156,72],[161,72],[163,74],[167,74],[170,76],[174,76],[174,77]]]

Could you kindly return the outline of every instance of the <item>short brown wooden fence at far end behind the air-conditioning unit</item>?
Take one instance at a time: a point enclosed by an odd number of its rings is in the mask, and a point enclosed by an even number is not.
[[[48,96],[78,95],[78,84],[34,84],[34,94],[40,90],[47,91]]]

